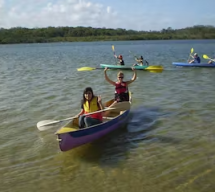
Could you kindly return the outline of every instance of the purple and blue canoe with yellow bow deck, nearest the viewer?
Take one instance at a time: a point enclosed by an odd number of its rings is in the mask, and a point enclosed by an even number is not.
[[[110,100],[105,103],[105,106],[108,107],[113,102],[114,100]],[[60,150],[68,151],[86,143],[93,142],[96,139],[99,139],[108,134],[109,132],[120,128],[129,119],[130,102],[126,103],[129,103],[129,107],[126,110],[111,110],[108,116],[103,117],[103,122],[101,124],[79,129],[78,119],[75,118],[61,127],[55,133],[57,135],[57,141],[59,142]]]

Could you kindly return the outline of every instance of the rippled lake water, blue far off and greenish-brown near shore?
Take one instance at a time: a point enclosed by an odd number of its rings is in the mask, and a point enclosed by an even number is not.
[[[58,127],[39,132],[36,123],[76,115],[87,86],[113,96],[102,70],[76,70],[114,63],[112,44],[127,65],[131,50],[165,70],[138,71],[124,129],[60,152]],[[192,47],[215,54],[215,40],[0,45],[0,191],[214,192],[215,68],[172,66]]]

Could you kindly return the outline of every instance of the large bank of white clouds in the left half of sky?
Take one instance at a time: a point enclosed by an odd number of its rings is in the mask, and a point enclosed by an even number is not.
[[[0,5],[2,4],[0,0]],[[3,4],[2,4],[3,5]],[[106,11],[105,11],[106,10]],[[47,27],[47,26],[92,26],[114,27],[117,13],[110,7],[87,0],[13,1],[13,6],[4,12],[0,27]],[[7,19],[2,19],[7,18]]]

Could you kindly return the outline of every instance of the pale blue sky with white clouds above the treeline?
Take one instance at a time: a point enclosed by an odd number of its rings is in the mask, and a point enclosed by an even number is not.
[[[215,26],[215,0],[0,0],[0,28]]]

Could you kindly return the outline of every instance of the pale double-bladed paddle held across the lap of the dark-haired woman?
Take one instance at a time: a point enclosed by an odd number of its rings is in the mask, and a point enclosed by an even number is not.
[[[95,111],[95,112],[92,112],[92,113],[88,113],[88,114],[84,114],[84,115],[92,115],[92,114],[96,114],[96,113],[100,113],[100,112],[104,112],[104,111],[110,111],[110,110],[112,110],[112,111],[125,111],[125,110],[128,110],[128,109],[130,109],[130,103],[129,102],[120,102],[120,103],[117,103],[116,105],[114,105],[111,108],[105,108],[105,109]],[[61,120],[43,120],[43,121],[39,121],[37,123],[37,128],[40,131],[45,131],[47,129],[53,128],[53,126],[51,126],[51,125],[54,125],[54,124],[57,124],[57,123],[62,123],[64,121],[68,121],[68,120],[72,120],[74,118],[77,118],[77,116],[69,117],[69,118],[61,119]]]

